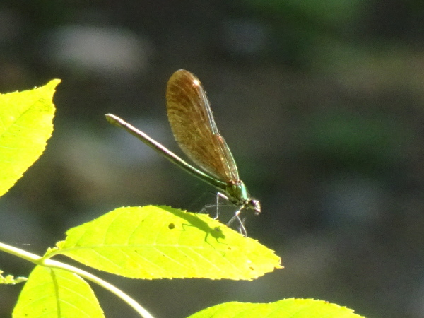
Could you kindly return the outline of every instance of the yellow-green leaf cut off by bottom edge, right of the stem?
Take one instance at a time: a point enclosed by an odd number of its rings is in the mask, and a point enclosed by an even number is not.
[[[360,318],[353,310],[323,300],[313,299],[285,299],[266,304],[252,304],[250,302],[225,302],[224,304],[206,308],[189,318]]]

